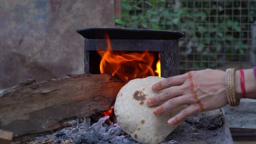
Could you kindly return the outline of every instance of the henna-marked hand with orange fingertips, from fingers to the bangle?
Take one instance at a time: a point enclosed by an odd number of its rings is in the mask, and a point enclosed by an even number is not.
[[[221,70],[206,69],[169,77],[154,84],[152,90],[163,90],[147,100],[148,106],[158,106],[153,110],[155,115],[178,106],[188,106],[168,120],[170,125],[198,112],[215,110],[228,104],[225,72]]]

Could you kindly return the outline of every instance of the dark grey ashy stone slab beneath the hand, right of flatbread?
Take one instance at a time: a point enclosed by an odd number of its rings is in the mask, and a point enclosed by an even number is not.
[[[178,144],[232,144],[233,140],[223,109],[190,116],[166,139]]]

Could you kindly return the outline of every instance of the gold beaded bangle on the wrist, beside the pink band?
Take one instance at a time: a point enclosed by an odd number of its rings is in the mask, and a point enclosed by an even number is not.
[[[238,106],[240,100],[236,98],[235,86],[234,86],[234,68],[228,68],[226,70],[225,82],[226,82],[226,96],[228,99],[228,104],[230,106]]]

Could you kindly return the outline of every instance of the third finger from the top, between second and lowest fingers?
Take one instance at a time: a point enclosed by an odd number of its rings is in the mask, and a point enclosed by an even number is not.
[[[191,104],[191,103],[192,102],[188,102],[187,96],[178,96],[176,98],[172,98],[172,99],[168,100],[167,102],[165,102],[161,106],[155,108],[153,110],[153,112],[154,112],[155,115],[159,115],[159,114],[162,114],[162,113],[164,113],[168,110],[176,108],[178,106],[187,105],[187,104]]]

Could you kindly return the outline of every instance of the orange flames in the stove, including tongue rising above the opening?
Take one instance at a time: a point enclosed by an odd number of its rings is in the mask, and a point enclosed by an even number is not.
[[[147,76],[160,77],[160,58],[157,62],[157,70],[153,70],[152,65],[155,60],[153,53],[112,51],[109,36],[106,34],[107,51],[98,51],[101,56],[100,71],[109,72],[112,76],[117,75],[124,81],[135,78],[145,78]],[[159,54],[160,57],[160,54]]]

